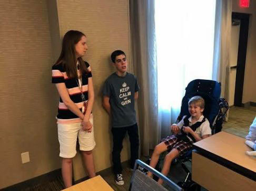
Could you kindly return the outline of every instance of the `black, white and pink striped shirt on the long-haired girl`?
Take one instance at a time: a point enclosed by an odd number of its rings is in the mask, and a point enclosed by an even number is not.
[[[88,101],[88,78],[92,77],[91,67],[85,62],[88,73],[82,76],[82,91],[85,95],[86,102]],[[78,74],[80,70],[77,70]],[[66,71],[63,68],[63,65],[60,63],[58,65],[54,65],[52,67],[52,83],[65,83],[67,88],[67,92],[70,95],[70,99],[76,104],[77,108],[82,112],[83,100],[81,98],[81,90],[78,87],[78,79],[77,78],[68,78],[66,75]],[[82,122],[82,120],[70,111],[66,105],[63,103],[60,98],[60,102],[58,103],[58,114],[56,116],[57,123],[77,123]]]

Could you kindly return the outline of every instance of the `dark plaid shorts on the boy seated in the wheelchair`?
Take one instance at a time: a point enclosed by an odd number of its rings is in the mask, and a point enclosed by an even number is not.
[[[162,139],[161,142],[164,142],[165,145],[168,148],[168,151],[171,151],[172,148],[176,148],[180,152],[180,156],[185,154],[186,151],[191,150],[193,147],[192,143],[188,143],[183,140],[178,140],[178,138],[175,135],[171,135],[166,137],[165,139]]]

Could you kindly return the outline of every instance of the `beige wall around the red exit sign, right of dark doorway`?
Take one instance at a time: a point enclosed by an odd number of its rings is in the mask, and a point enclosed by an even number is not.
[[[256,1],[251,0],[249,8],[241,8],[239,0],[232,0],[232,12],[250,14],[242,102],[256,102]]]

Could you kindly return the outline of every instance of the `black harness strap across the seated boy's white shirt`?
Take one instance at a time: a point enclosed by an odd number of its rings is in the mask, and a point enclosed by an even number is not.
[[[188,135],[193,140],[193,142],[195,143],[196,142],[195,138],[190,133],[188,133],[188,134],[185,133],[183,131],[183,127],[184,126],[189,126],[193,131],[195,131],[196,129],[198,129],[200,127],[200,125],[203,122],[205,122],[206,118],[204,116],[202,121],[198,121],[198,122],[194,123],[193,125],[189,125],[189,118],[190,118],[190,115],[186,115],[185,118],[183,119],[184,125],[181,128],[181,135],[178,135],[178,139],[181,139],[181,140],[186,141],[186,142],[188,142],[188,141],[190,142],[190,139],[187,137],[187,135]]]

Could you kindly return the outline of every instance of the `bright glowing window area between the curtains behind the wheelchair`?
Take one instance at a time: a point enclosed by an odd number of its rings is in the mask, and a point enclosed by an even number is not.
[[[185,87],[212,79],[215,0],[155,1],[158,127],[170,134]]]

